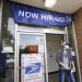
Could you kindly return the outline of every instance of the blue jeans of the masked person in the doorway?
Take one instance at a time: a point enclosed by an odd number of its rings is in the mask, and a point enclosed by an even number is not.
[[[60,82],[65,82],[66,75],[68,77],[69,82],[75,82],[74,77],[71,73],[71,70],[59,70]]]

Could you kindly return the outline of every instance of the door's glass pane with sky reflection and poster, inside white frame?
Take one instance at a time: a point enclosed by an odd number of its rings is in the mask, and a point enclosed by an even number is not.
[[[20,34],[19,38],[19,47],[20,47],[20,82],[35,81],[34,78],[40,80],[40,82],[45,82],[46,80],[46,68],[45,68],[45,40],[44,35],[37,34]],[[32,72],[28,74],[30,68],[35,67],[37,65],[39,67],[38,72]],[[26,71],[26,74],[24,71]],[[21,78],[22,77],[22,78]]]

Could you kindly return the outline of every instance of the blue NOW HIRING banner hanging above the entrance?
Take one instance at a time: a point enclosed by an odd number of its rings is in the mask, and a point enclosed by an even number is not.
[[[16,2],[10,2],[15,23],[36,24],[44,26],[67,26],[71,23],[71,15],[48,11]]]

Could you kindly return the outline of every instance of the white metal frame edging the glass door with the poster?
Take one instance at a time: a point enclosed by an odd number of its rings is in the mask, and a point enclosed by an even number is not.
[[[14,57],[14,82],[19,82],[20,81],[20,72],[19,70],[22,69],[19,67],[19,60],[20,60],[20,56],[19,56],[19,44],[20,44],[20,35],[22,34],[36,34],[36,35],[43,35],[44,36],[44,43],[45,43],[45,74],[46,74],[46,82],[48,82],[48,72],[47,72],[47,50],[46,50],[46,35],[42,34],[42,33],[34,33],[34,32],[22,32],[22,31],[16,31],[15,32],[15,57]]]

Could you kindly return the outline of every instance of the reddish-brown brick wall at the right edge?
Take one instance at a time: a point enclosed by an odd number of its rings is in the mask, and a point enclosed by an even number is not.
[[[73,15],[77,44],[79,50],[79,61],[82,75],[82,9],[78,10]],[[81,78],[82,79],[82,78]]]

